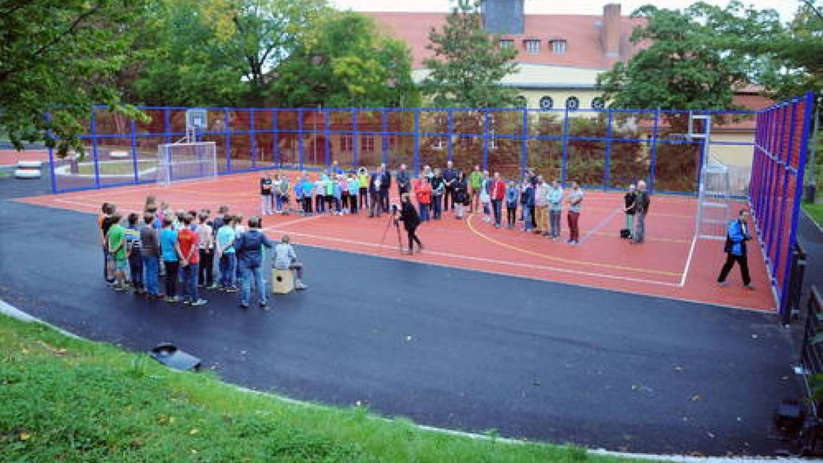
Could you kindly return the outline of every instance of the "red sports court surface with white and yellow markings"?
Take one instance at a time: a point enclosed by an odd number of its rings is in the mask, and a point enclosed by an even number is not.
[[[146,195],[154,194],[175,210],[210,208],[213,213],[219,205],[227,204],[232,213],[249,217],[260,213],[259,176],[226,175],[169,187],[136,185],[18,200],[86,213],[97,213],[101,203],[110,201],[121,213],[129,213],[142,211]],[[519,230],[497,229],[483,222],[480,214],[456,220],[452,213],[444,213],[442,220],[421,225],[418,236],[425,250],[416,255],[398,252],[398,234],[386,214],[379,218],[368,218],[363,212],[346,216],[266,216],[263,225],[270,236],[279,238],[288,233],[292,241],[307,246],[756,311],[775,310],[760,246],[749,246],[756,290],[742,288],[737,268],[728,278],[732,283],[728,287],[714,283],[725,260],[723,241],[693,239],[695,199],[653,196],[646,218],[646,241],[641,244],[630,244],[618,236],[625,220],[622,200],[619,193],[585,192],[579,246],[565,244],[565,215],[564,239],[551,241]],[[522,222],[518,225],[522,227]],[[405,242],[402,227],[401,234]],[[341,271],[344,268],[341,262]],[[593,303],[603,301],[608,299]],[[547,305],[551,303],[546,301]]]

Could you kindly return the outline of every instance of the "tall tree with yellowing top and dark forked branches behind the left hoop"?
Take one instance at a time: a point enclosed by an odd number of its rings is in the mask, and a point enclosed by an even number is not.
[[[329,9],[325,0],[156,0],[155,54],[134,82],[153,105],[267,105],[275,69]]]

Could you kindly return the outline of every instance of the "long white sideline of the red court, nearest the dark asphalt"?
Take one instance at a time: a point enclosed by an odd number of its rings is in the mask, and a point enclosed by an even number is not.
[[[274,230],[277,230],[277,226],[272,226],[272,228]],[[283,230],[282,232],[288,232],[288,231]],[[288,232],[288,233],[290,235],[305,236],[307,238],[314,238],[316,240],[321,240],[321,241],[323,241],[323,240],[325,240],[325,241],[334,241],[334,242],[346,243],[346,244],[357,245],[357,246],[365,246],[365,247],[373,247],[373,248],[381,248],[381,249],[385,248],[385,247],[388,247],[388,248],[393,248],[394,247],[394,246],[388,246],[388,245],[380,246],[377,243],[370,243],[370,242],[364,242],[364,241],[354,241],[354,240],[348,240],[348,239],[345,239],[345,238],[334,238],[332,236],[318,236],[318,235],[312,235],[312,234],[309,234],[309,233],[302,233],[302,232]],[[315,247],[320,247],[320,246],[315,246]],[[357,252],[357,251],[352,251],[352,250],[347,250],[347,251],[354,252],[356,254],[371,255],[371,254],[364,253],[364,252]],[[520,268],[523,268],[523,269],[548,270],[548,271],[552,271],[552,272],[558,272],[558,273],[561,273],[561,274],[584,275],[584,276],[594,277],[594,278],[611,278],[611,279],[615,279],[615,280],[629,281],[629,282],[633,282],[633,283],[656,284],[656,285],[659,285],[659,286],[666,286],[666,287],[670,287],[670,288],[680,288],[680,285],[678,283],[658,282],[658,281],[648,280],[648,279],[644,279],[644,278],[623,277],[623,276],[610,275],[610,274],[596,274],[596,273],[593,273],[593,272],[584,272],[582,270],[563,269],[563,268],[560,268],[560,267],[549,267],[549,266],[546,266],[546,265],[537,265],[537,264],[523,264],[523,263],[519,263],[519,262],[507,262],[507,261],[504,261],[504,260],[486,259],[485,257],[474,257],[474,256],[471,256],[471,255],[456,255],[456,254],[451,254],[451,253],[447,253],[447,252],[430,251],[430,250],[425,251],[425,254],[427,254],[427,255],[439,255],[439,256],[442,256],[442,257],[449,257],[449,258],[457,259],[457,260],[474,260],[474,261],[477,261],[477,262],[484,262],[484,263],[487,263],[487,264],[509,265],[509,266],[512,266],[512,267],[520,267]],[[374,256],[374,255],[372,255],[372,256]],[[402,258],[399,258],[399,257],[385,256],[385,255],[379,255],[379,257],[388,257],[388,259],[408,261],[407,259],[402,259]],[[412,262],[414,262],[414,261],[412,261]],[[421,262],[421,264],[437,265],[439,267],[447,267],[447,268],[451,268],[451,269],[455,268],[454,265],[440,264],[440,263],[437,263],[437,262]],[[459,267],[458,267],[458,269],[459,269]],[[495,272],[493,270],[481,269],[480,271],[481,272],[486,272],[486,273],[491,273],[491,274],[501,274],[500,272]],[[513,275],[509,275],[509,276],[513,276]],[[514,276],[522,277],[522,275],[514,275]],[[545,278],[533,278],[533,277],[525,277],[525,278],[532,278],[532,279],[535,279],[537,281],[546,281]],[[551,281],[551,280],[549,280],[549,281]]]

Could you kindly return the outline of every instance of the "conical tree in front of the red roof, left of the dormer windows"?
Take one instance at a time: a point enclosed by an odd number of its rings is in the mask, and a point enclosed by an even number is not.
[[[500,48],[496,37],[482,28],[477,6],[458,3],[446,18],[443,30],[432,28],[430,44],[435,58],[423,64],[429,75],[422,91],[435,106],[501,108],[514,105],[516,92],[500,81],[517,71],[514,49]]]

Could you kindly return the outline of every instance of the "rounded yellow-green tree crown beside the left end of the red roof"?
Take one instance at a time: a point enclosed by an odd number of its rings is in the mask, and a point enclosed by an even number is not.
[[[379,34],[374,20],[331,12],[277,67],[272,85],[286,106],[416,105],[407,45]]]

